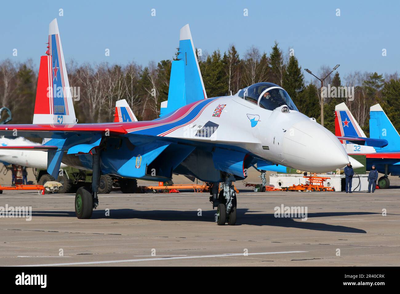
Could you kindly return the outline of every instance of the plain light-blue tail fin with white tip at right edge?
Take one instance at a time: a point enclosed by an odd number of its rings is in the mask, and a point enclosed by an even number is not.
[[[370,138],[388,141],[386,147],[375,148],[378,151],[390,152],[400,149],[400,135],[379,104],[370,108]]]

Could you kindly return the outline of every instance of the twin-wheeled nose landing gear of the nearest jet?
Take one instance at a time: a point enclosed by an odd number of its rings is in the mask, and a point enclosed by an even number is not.
[[[228,225],[234,226],[236,224],[236,192],[234,190],[232,180],[233,176],[227,176],[225,182],[222,183],[222,190],[218,194],[219,183],[214,183],[212,186],[212,208],[217,208],[215,214],[218,226],[224,226],[226,221]]]

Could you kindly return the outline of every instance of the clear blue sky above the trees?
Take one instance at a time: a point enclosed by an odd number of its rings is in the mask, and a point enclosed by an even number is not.
[[[48,24],[57,18],[66,61],[74,58],[78,64],[134,60],[146,65],[170,59],[180,28],[189,23],[194,46],[208,53],[223,52],[230,43],[241,55],[252,45],[269,53],[276,40],[285,53],[294,48],[302,68],[313,72],[324,64],[340,64],[341,76],[354,70],[400,72],[400,2],[394,0],[16,0],[1,6],[0,60],[32,58],[36,66],[46,51]],[[64,16],[58,16],[59,8]],[[18,49],[17,57],[12,56],[13,48]],[[110,49],[109,57],[105,48]]]

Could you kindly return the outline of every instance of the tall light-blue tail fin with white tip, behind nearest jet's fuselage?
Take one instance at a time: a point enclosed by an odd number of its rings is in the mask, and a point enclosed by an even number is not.
[[[160,116],[207,98],[188,24],[180,29],[178,53],[178,60],[172,61],[168,100],[161,103]]]

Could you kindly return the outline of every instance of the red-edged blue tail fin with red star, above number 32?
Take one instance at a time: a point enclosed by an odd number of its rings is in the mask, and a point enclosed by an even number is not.
[[[344,102],[335,107],[335,135],[365,138],[364,131]]]

